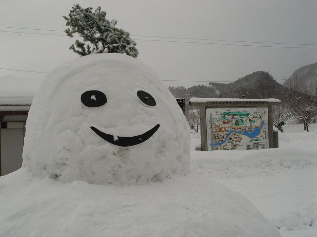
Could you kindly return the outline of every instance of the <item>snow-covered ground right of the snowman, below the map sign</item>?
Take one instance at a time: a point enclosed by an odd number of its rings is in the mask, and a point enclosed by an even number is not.
[[[280,228],[282,237],[317,237],[317,124],[286,125],[279,148],[195,151],[191,171],[237,191]]]

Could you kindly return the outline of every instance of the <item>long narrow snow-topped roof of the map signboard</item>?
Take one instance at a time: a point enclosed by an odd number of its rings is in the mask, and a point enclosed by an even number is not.
[[[199,104],[213,105],[213,104],[270,104],[278,105],[281,101],[278,99],[237,99],[237,98],[191,98],[189,104],[191,106],[198,106]]]

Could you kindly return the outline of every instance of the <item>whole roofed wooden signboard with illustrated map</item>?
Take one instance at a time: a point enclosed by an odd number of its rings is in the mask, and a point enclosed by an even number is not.
[[[189,105],[199,107],[201,150],[278,147],[272,105],[279,104],[278,99],[191,98]]]

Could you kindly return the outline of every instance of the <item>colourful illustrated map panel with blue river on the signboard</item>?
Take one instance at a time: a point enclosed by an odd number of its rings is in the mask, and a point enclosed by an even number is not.
[[[268,148],[267,108],[206,109],[208,150]]]

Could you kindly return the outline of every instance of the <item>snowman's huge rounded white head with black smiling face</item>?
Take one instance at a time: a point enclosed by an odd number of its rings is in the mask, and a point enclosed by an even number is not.
[[[138,59],[94,54],[50,72],[34,97],[23,166],[61,182],[131,184],[186,174],[182,110]]]

